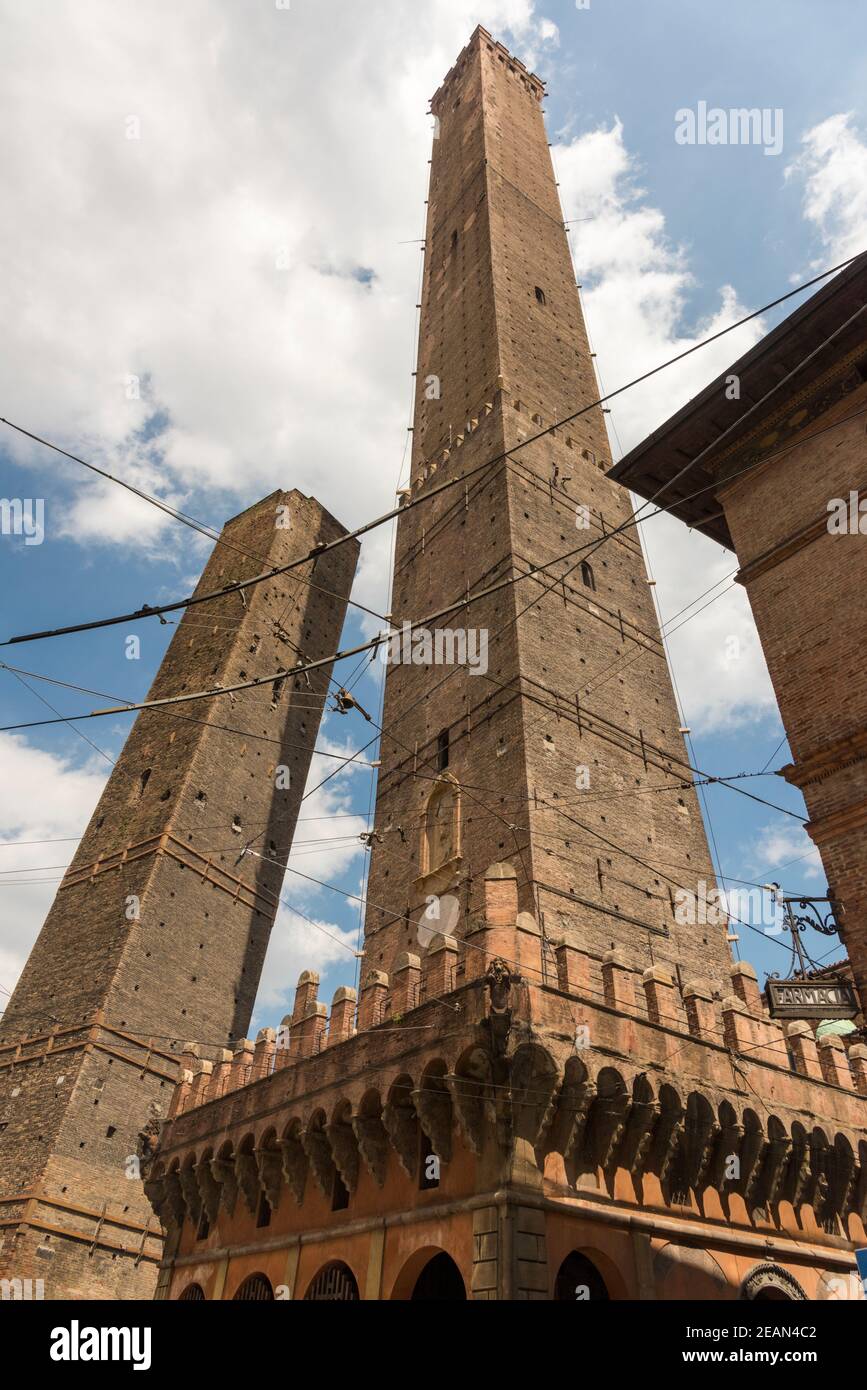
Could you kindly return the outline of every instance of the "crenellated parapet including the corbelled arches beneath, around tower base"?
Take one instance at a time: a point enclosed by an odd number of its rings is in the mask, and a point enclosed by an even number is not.
[[[543,973],[509,866],[486,883],[481,951],[435,935],[390,980],[363,970],[360,998],[342,987],[328,1016],[304,972],[276,1036],[215,1062],[186,1049],[149,1180],[164,1222],[239,1200],[253,1213],[260,1194],[303,1207],[336,1176],[352,1198],[393,1165],[417,1182],[425,1155],[447,1173],[463,1154],[559,1197],[588,1177],[613,1194],[620,1173],[678,1211],[703,1211],[713,1190],[732,1220],[810,1207],[825,1232],[863,1238],[867,1047],[817,1042],[806,1022],[784,1030],[743,962],[722,998],[565,941]],[[509,931],[525,938],[520,966],[488,954]]]

